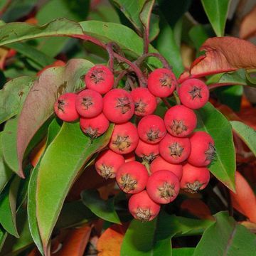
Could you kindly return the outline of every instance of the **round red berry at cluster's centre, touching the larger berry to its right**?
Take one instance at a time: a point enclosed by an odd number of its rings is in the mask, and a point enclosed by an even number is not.
[[[139,138],[149,144],[156,144],[164,138],[166,134],[166,127],[164,120],[161,117],[149,114],[143,117],[138,124]]]

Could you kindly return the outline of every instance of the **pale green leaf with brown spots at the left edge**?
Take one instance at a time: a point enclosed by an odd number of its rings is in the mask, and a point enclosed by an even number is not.
[[[0,90],[0,123],[18,114],[34,80],[24,76],[6,82]]]

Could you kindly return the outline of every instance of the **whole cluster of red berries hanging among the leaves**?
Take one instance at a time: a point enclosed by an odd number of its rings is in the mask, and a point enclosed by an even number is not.
[[[178,85],[166,68],[149,74],[147,88],[129,92],[112,89],[113,83],[112,72],[95,65],[85,75],[86,89],[60,96],[55,113],[67,122],[80,117],[82,132],[92,138],[103,134],[110,122],[115,124],[95,169],[104,178],[116,178],[119,188],[132,194],[129,211],[134,218],[152,220],[160,205],[174,201],[181,188],[196,193],[210,180],[207,166],[215,155],[213,139],[206,132],[193,132],[193,110],[208,102],[209,90],[198,79]],[[170,97],[174,90],[182,105],[169,108],[164,119],[153,114],[157,97]],[[130,122],[134,114],[137,126]]]

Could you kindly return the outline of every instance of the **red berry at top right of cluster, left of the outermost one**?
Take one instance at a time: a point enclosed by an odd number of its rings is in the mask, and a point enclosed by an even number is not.
[[[167,68],[157,68],[149,74],[148,88],[156,97],[169,97],[176,85],[174,73]]]

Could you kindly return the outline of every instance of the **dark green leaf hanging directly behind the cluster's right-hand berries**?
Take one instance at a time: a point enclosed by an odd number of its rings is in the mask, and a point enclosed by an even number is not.
[[[230,123],[209,102],[196,110],[196,115],[197,130],[208,132],[215,143],[216,156],[209,166],[210,172],[235,191],[235,146]]]

